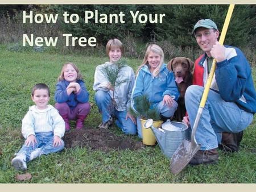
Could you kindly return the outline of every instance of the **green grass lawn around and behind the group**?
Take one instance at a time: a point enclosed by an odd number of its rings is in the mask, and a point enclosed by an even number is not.
[[[51,89],[50,104],[61,66],[68,61],[80,68],[94,103],[93,78],[98,64],[107,57],[83,55],[53,55],[37,52],[10,52],[0,46],[0,183],[17,183],[17,173],[11,167],[11,159],[23,144],[20,136],[22,118],[33,105],[31,87],[44,82]],[[135,70],[142,60],[127,59]],[[254,81],[256,69],[253,69]],[[85,121],[86,127],[96,128],[101,115],[93,106]],[[179,176],[170,173],[170,161],[160,148],[146,147],[140,151],[91,151],[88,148],[64,149],[60,153],[41,156],[28,163],[27,172],[32,179],[27,183],[255,183],[256,122],[243,136],[241,150],[226,155],[220,151],[218,165],[188,166]],[[123,139],[125,136],[114,130]]]

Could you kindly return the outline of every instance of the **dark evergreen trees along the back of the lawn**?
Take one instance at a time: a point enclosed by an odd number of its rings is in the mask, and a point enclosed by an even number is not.
[[[0,15],[6,28],[2,27],[0,43],[15,41],[16,36],[22,38],[20,33],[35,33],[41,36],[57,36],[63,33],[70,33],[73,36],[94,36],[99,45],[104,45],[113,37],[126,40],[134,49],[138,46],[133,44],[148,42],[161,42],[162,46],[178,47],[179,49],[196,48],[196,41],[192,35],[193,25],[199,19],[209,18],[216,22],[221,31],[224,24],[226,12],[229,5],[2,5]],[[22,11],[32,10],[36,13],[59,14],[58,23],[55,24],[30,24],[22,23]],[[95,23],[90,20],[84,22],[84,11],[98,10],[98,13],[118,14],[123,11],[126,17],[125,23]],[[76,24],[64,23],[61,17],[67,11],[69,14],[79,14],[80,20]],[[133,23],[129,11],[140,11],[144,14],[166,14],[163,23]],[[11,23],[8,23],[8,21]],[[12,23],[13,22],[13,23]],[[16,26],[15,23],[16,22]],[[9,24],[9,26],[8,26]],[[19,32],[16,32],[18,31]],[[16,34],[15,34],[16,32]],[[6,35],[13,35],[6,40]],[[230,21],[225,44],[237,47],[255,47],[256,45],[256,5],[236,5]],[[165,42],[169,42],[165,44]],[[171,42],[171,45],[170,45]],[[131,55],[136,51],[130,49]],[[134,51],[134,53],[133,53]]]

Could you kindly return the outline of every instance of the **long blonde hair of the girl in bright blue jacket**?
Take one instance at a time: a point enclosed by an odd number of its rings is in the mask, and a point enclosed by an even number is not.
[[[147,57],[149,55],[150,52],[153,52],[157,55],[160,55],[161,57],[161,60],[160,60],[160,64],[155,68],[154,72],[153,72],[153,76],[156,77],[158,76],[159,72],[160,72],[160,69],[162,68],[163,66],[163,61],[164,61],[164,53],[163,53],[163,49],[160,48],[158,45],[156,44],[150,44],[148,45],[147,47],[147,50],[146,50],[146,53],[144,55],[144,59],[143,59],[143,62],[142,64],[138,67],[138,70],[136,72],[136,75],[139,73],[139,70],[146,64],[148,64],[148,61],[147,61]]]

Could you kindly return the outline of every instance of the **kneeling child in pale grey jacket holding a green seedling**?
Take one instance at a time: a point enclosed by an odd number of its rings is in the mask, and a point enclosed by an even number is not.
[[[131,105],[134,71],[125,61],[120,60],[123,54],[120,40],[110,39],[106,53],[109,61],[98,65],[94,74],[95,101],[102,114],[102,123],[98,127],[108,129],[114,116],[117,118],[115,124],[124,133],[134,135],[137,133],[136,119],[127,111]]]

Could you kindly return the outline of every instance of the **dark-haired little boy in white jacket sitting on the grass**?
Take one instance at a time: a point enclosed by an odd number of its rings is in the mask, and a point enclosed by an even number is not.
[[[26,141],[11,161],[15,169],[23,171],[27,169],[26,162],[64,148],[61,137],[64,136],[65,123],[59,112],[48,105],[49,87],[36,84],[31,99],[35,105],[29,108],[22,120],[22,135]]]

